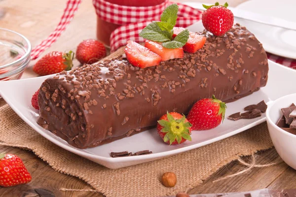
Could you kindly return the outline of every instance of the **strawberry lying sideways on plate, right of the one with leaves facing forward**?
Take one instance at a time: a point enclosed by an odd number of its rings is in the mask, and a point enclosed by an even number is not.
[[[187,116],[192,130],[209,130],[218,127],[224,120],[226,104],[213,95],[194,103]]]

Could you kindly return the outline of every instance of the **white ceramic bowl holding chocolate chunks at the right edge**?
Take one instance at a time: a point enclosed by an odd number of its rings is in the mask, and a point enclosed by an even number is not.
[[[287,95],[273,101],[266,110],[266,121],[272,143],[280,157],[296,169],[296,135],[284,131],[276,123],[282,117],[281,108],[296,104],[296,94]]]

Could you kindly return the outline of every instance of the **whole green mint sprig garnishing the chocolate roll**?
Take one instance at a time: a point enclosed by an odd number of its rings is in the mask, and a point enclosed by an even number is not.
[[[162,42],[162,46],[165,48],[175,49],[183,47],[189,38],[188,30],[182,31],[173,39],[173,28],[177,22],[178,9],[179,6],[177,4],[169,5],[162,12],[160,21],[150,23],[142,30],[140,36],[151,41]]]

